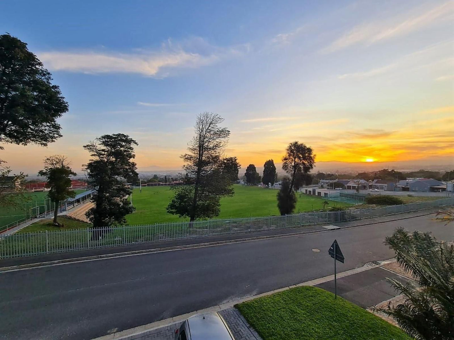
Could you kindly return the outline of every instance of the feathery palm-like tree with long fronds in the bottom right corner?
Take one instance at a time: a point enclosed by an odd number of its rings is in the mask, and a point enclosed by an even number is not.
[[[417,285],[388,279],[405,301],[375,311],[397,321],[408,335],[421,340],[454,339],[454,244],[438,242],[430,233],[397,228],[384,243]]]

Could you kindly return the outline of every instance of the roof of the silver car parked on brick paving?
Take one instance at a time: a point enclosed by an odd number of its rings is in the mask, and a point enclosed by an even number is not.
[[[188,325],[191,340],[232,340],[224,321],[217,313],[191,316]]]

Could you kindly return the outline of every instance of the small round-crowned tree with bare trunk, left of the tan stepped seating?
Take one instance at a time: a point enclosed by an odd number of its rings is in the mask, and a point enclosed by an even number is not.
[[[71,170],[71,163],[64,155],[53,155],[44,159],[44,169],[38,172],[39,176],[47,178],[46,188],[50,188],[49,199],[54,203],[54,225],[59,226],[57,222],[58,207],[61,201],[68,197],[74,197],[75,191],[71,187],[69,176],[77,175]]]

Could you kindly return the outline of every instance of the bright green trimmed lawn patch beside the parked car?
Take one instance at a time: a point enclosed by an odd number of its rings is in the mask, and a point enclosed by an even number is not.
[[[410,340],[402,330],[341,297],[297,287],[236,306],[264,340]]]

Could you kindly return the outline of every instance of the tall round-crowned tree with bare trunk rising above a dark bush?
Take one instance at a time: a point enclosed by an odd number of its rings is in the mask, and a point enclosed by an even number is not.
[[[282,157],[282,170],[291,176],[289,192],[293,190],[293,185],[298,173],[307,174],[314,168],[315,155],[309,146],[294,141],[286,148],[286,154]]]

